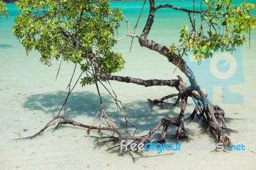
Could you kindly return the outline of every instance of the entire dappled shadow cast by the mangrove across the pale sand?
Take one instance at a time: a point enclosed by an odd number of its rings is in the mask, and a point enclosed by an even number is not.
[[[43,93],[31,95],[26,98],[23,107],[31,111],[43,111],[45,114],[51,114],[54,117],[60,111],[65,98],[66,91],[57,91],[54,93]],[[107,112],[109,118],[117,122],[117,126],[122,123],[125,125],[124,117],[116,109],[116,104],[110,95],[102,95],[104,110]],[[179,106],[173,106],[176,99],[172,98],[163,105],[150,105],[145,100],[134,101],[125,104],[125,116],[133,126],[128,125],[128,128],[133,133],[136,128],[137,134],[145,134],[149,132],[152,127],[155,127],[163,118],[177,118],[179,116]],[[75,119],[77,116],[85,116],[88,120],[93,120],[95,114],[99,111],[100,102],[97,93],[82,91],[72,92],[67,101],[66,116]],[[124,111],[124,109],[123,109]],[[190,112],[187,113],[188,115]],[[45,122],[47,123],[47,122]],[[124,128],[124,126],[119,126]],[[170,128],[170,134],[175,134],[176,128]],[[189,130],[189,128],[187,128]]]

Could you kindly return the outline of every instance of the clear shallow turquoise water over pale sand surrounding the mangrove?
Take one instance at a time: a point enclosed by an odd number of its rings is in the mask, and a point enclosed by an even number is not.
[[[175,6],[192,8],[191,1],[157,1],[157,4],[162,2],[172,2]],[[255,3],[253,0],[246,2]],[[235,3],[239,4],[238,1]],[[142,4],[143,1],[111,2],[111,6],[123,10],[131,24],[131,32]],[[172,166],[174,169],[210,167],[210,169],[223,167],[225,169],[253,169],[256,158],[254,137],[256,133],[253,131],[256,123],[256,107],[253,99],[256,95],[253,88],[256,81],[255,31],[252,31],[251,49],[249,50],[248,43],[246,43],[242,49],[238,50],[238,58],[241,59],[239,62],[242,63],[243,69],[236,79],[232,79],[232,82],[228,81],[228,86],[223,86],[218,79],[214,79],[215,82],[207,80],[207,77],[212,76],[209,70],[204,70],[208,61],[200,66],[190,63],[191,68],[195,70],[199,84],[203,84],[202,88],[212,95],[214,104],[219,104],[225,109],[228,127],[238,131],[230,134],[232,142],[245,144],[246,151],[231,153],[191,151],[191,153],[172,155],[164,152],[160,157],[154,157],[155,153],[143,153],[143,158],[140,155],[133,155],[136,157],[134,163],[128,154],[119,157],[118,152],[109,151],[108,144],[98,148],[95,138],[89,137],[86,130],[81,128],[65,126],[54,132],[52,132],[53,128],[49,128],[43,136],[33,140],[16,140],[38,132],[58,112],[67,95],[67,84],[74,65],[63,63],[58,79],[55,81],[60,61],[56,61],[51,68],[48,68],[38,61],[38,52],[33,51],[26,56],[26,51],[12,34],[14,17],[18,15],[14,4],[8,4],[8,13],[9,20],[0,20],[0,169],[163,169],[167,166]],[[148,4],[141,15],[137,34],[140,34],[143,29],[147,15]],[[256,16],[256,12],[252,12],[252,15]],[[162,10],[156,14],[154,26],[148,38],[168,46],[179,40],[179,29],[188,22],[186,15],[173,10]],[[125,32],[126,25],[123,23],[118,36],[123,36]],[[179,70],[173,74],[175,66],[156,52],[141,48],[136,40],[129,53],[130,43],[131,38],[125,38],[115,47],[115,50],[122,52],[126,61],[125,68],[118,73],[119,75],[142,79],[175,79],[176,75],[184,77]],[[189,58],[186,60],[190,61]],[[226,68],[221,69],[224,72]],[[74,79],[78,76],[79,70],[75,73]],[[147,102],[147,98],[161,98],[164,95],[175,93],[175,89],[145,88],[119,82],[112,82],[112,86],[118,99],[122,100],[127,109],[127,118],[139,128],[138,133],[147,133],[159,123],[161,118],[179,115],[179,107],[172,107],[173,100],[168,100],[163,106],[155,107],[150,107]],[[211,91],[207,89],[209,86],[212,88]],[[100,87],[100,89],[103,93],[104,108],[109,117],[116,121],[124,121],[121,115],[116,114],[115,102],[111,100],[104,88]],[[233,98],[233,101],[237,103],[227,104],[226,98],[230,97],[228,94],[231,92],[238,95]],[[74,120],[89,124],[98,110],[99,99],[95,86],[82,88],[78,84],[68,100],[67,115]],[[193,106],[188,105],[186,116],[191,111],[193,111]],[[186,123],[186,130],[188,130],[189,142],[212,143],[211,136],[202,134],[200,121]],[[171,128],[168,133],[175,134],[175,129]],[[91,135],[97,136],[97,132],[92,132]],[[173,140],[172,135],[169,141]],[[144,158],[146,156],[148,158]],[[227,165],[228,161],[232,164]],[[184,167],[180,167],[180,162],[183,162]]]

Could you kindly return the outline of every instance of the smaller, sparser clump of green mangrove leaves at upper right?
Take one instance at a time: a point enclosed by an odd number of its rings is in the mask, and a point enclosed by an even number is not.
[[[200,28],[188,31],[188,26],[183,26],[179,41],[182,44],[177,47],[171,45],[170,52],[179,56],[193,52],[198,61],[212,57],[218,50],[233,52],[246,41],[244,33],[256,27],[256,19],[249,12],[255,10],[254,4],[234,6],[232,0],[205,0],[205,6]]]

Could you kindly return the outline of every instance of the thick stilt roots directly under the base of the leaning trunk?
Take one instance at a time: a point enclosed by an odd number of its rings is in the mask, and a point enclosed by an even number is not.
[[[195,115],[199,120],[205,122],[205,127],[209,128],[209,131],[216,139],[217,143],[223,143],[224,146],[228,146],[231,144],[231,140],[227,137],[227,126],[225,125],[225,112],[218,105],[212,105],[211,102],[207,99],[207,95],[204,95],[202,91],[191,89],[191,87],[186,87],[186,82],[184,82],[181,77],[178,77],[180,80],[179,86],[175,86],[179,90],[179,94],[168,95],[159,100],[148,100],[150,104],[159,104],[163,103],[163,100],[168,97],[179,96],[181,98],[181,109],[179,115],[179,125],[177,126],[176,132],[176,140],[187,138],[186,130],[184,128],[185,120],[193,120]],[[190,114],[190,116],[184,119],[184,111],[186,109],[186,104],[188,97],[191,97],[196,104],[194,111]],[[198,114],[199,112],[199,114]],[[220,122],[222,126],[220,125]],[[162,133],[163,134],[163,133]],[[163,142],[163,139],[159,139],[159,142]]]

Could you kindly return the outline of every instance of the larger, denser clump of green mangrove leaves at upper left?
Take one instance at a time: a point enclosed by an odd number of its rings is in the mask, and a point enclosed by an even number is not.
[[[80,64],[88,73],[92,69],[89,56],[93,54],[102,72],[123,68],[122,56],[111,50],[122,13],[111,9],[108,1],[20,0],[16,5],[20,15],[15,18],[13,33],[27,52],[38,50],[45,65],[63,58]],[[94,81],[95,77],[88,75],[81,84]]]

